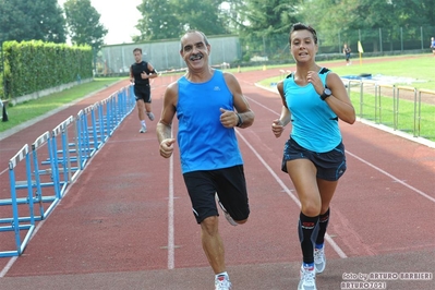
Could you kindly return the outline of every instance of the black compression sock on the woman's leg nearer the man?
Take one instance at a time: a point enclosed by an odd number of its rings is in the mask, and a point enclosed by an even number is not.
[[[318,231],[318,216],[307,217],[302,212],[299,217],[299,240],[304,264],[314,263],[314,240]]]

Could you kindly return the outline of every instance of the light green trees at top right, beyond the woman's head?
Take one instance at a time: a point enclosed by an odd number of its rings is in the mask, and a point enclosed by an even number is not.
[[[433,11],[433,0],[311,0],[301,4],[302,19],[322,32],[324,43],[330,43],[339,32],[341,43],[371,39],[374,50],[379,43],[379,29],[385,41],[399,39],[400,28],[416,38],[420,26],[435,26]]]

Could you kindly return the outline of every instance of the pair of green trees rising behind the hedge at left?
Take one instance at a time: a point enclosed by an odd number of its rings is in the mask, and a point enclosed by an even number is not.
[[[104,45],[107,28],[90,0],[0,0],[0,43],[43,40],[88,45],[96,51]]]

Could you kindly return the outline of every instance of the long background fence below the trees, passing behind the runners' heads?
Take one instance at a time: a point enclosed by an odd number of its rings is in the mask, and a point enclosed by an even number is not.
[[[430,40],[435,35],[433,26],[357,29],[343,32],[317,31],[319,50],[317,58],[342,58],[342,46],[348,44],[352,53],[358,53],[358,41],[362,44],[364,56],[399,55],[407,51],[431,52]],[[276,64],[292,61],[289,52],[289,34],[275,34],[265,37],[209,36],[212,45],[210,63],[219,65]],[[184,62],[180,57],[180,40],[160,40],[138,44],[104,46],[97,61],[98,75],[128,74],[134,62],[133,49],[142,48],[144,59],[158,71],[180,69]]]

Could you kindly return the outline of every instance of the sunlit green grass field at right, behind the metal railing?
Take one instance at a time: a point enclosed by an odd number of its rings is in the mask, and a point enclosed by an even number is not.
[[[390,83],[390,85],[414,87],[418,89],[430,89],[435,92],[435,69],[433,67],[434,60],[422,55],[412,57],[412,59],[402,59],[397,57],[397,61],[388,62],[383,62],[382,58],[378,58],[379,62],[375,63],[364,63],[363,59],[362,64],[360,64],[359,60],[353,59],[353,64],[349,67],[345,64],[337,67],[338,63],[343,63],[343,61],[325,61],[318,62],[318,64],[326,68],[328,68],[328,64],[334,64],[330,65],[331,70],[340,76],[371,73],[372,75],[380,74],[385,76],[394,76],[398,80],[401,80],[400,77],[409,77],[413,78],[414,81],[411,83]],[[294,64],[291,67],[294,67]],[[287,68],[289,68],[289,65],[287,65]],[[281,80],[281,75],[266,78],[261,82],[261,85],[270,86],[271,83],[277,83]],[[435,105],[424,104],[422,101],[421,114],[419,116],[418,108],[415,110],[415,105],[412,100],[400,99],[398,109],[395,109],[392,97],[383,94],[377,99],[377,104],[380,101],[380,106],[376,106],[374,93],[364,92],[361,98],[359,89],[359,86],[357,86],[352,88],[350,94],[357,116],[363,119],[372,120],[375,123],[391,126],[396,130],[400,130],[415,136],[435,141]],[[431,96],[435,98],[434,95]]]

